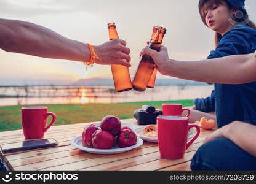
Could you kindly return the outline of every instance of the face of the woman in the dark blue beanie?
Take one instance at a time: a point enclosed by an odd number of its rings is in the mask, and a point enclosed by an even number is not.
[[[213,3],[211,6],[204,4],[202,13],[204,13],[207,26],[220,34],[224,34],[228,28],[234,26],[229,21],[233,17],[233,11],[228,9],[225,1],[222,1],[222,4]]]

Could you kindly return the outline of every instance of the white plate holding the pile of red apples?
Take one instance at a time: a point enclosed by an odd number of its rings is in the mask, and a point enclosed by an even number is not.
[[[95,148],[87,148],[82,146],[82,136],[74,137],[70,140],[70,144],[78,148],[79,150],[83,150],[89,153],[95,153],[95,154],[116,154],[116,153],[123,153],[126,151],[130,151],[134,148],[140,147],[143,144],[143,140],[140,139],[140,137],[137,137],[137,143],[135,145],[132,145],[130,147],[126,148],[119,148],[117,145],[114,146],[111,149],[95,149]]]

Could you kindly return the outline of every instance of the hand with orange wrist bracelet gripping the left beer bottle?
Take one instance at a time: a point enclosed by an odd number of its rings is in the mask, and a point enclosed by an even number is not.
[[[121,64],[130,67],[130,48],[126,47],[126,41],[113,39],[102,45],[94,46],[95,53],[100,57],[97,64]],[[124,60],[125,59],[125,60]]]

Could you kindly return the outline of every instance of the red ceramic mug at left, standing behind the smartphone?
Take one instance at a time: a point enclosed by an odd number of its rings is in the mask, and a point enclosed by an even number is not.
[[[46,126],[47,118],[52,116],[52,122]],[[22,128],[25,139],[40,139],[54,125],[56,115],[47,112],[47,107],[22,107]]]

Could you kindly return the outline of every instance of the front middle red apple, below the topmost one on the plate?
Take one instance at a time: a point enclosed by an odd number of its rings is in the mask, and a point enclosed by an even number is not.
[[[92,134],[92,145],[96,149],[111,149],[114,145],[114,137],[110,132],[97,130]]]

